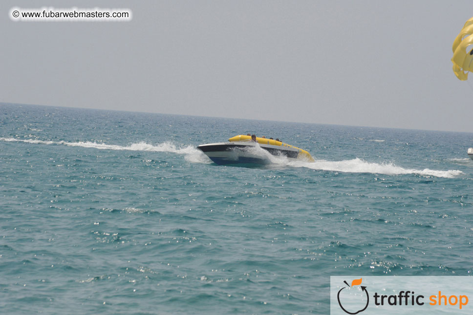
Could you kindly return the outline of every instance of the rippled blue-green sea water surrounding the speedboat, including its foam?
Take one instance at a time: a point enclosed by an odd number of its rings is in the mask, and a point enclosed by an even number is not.
[[[316,161],[196,149],[247,133]],[[471,275],[472,141],[2,104],[2,314],[328,314],[330,275]]]

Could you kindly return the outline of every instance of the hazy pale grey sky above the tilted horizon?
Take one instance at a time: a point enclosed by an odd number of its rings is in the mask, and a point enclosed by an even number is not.
[[[12,7],[129,8],[14,22]],[[0,102],[473,132],[473,1],[2,1]],[[1,111],[1,107],[0,107]]]

